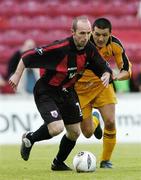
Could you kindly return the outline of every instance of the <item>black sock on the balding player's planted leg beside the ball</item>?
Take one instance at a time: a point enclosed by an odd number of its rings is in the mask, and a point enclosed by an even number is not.
[[[68,155],[70,154],[71,150],[74,148],[75,144],[76,144],[76,141],[72,141],[68,139],[66,135],[64,135],[60,142],[59,152],[56,156],[56,159],[59,162],[65,161]]]

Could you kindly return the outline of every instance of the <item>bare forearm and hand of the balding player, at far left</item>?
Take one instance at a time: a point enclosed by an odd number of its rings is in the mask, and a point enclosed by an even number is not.
[[[19,64],[17,66],[17,69],[15,71],[15,73],[10,77],[9,79],[9,84],[12,86],[12,88],[16,91],[17,86],[19,84],[19,81],[21,79],[21,76],[23,74],[23,71],[25,69],[25,65],[22,61],[22,59],[20,59]]]

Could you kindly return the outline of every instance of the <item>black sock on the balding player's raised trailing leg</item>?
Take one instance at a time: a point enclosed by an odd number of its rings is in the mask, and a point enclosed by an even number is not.
[[[37,141],[51,139],[51,135],[48,132],[47,124],[43,124],[37,131],[29,133],[27,138],[34,144]]]

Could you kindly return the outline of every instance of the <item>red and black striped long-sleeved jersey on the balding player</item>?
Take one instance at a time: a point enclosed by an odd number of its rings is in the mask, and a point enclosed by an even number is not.
[[[95,46],[88,41],[84,49],[78,50],[73,37],[26,51],[22,55],[26,68],[44,68],[46,83],[52,86],[71,87],[84,70],[92,70],[98,77],[111,69],[102,59]]]

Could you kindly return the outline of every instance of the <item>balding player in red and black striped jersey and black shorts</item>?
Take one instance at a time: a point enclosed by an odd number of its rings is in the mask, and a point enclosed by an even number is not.
[[[35,132],[22,136],[21,156],[27,161],[33,144],[60,134],[64,127],[59,151],[51,165],[52,170],[71,170],[64,161],[80,135],[82,113],[75,82],[85,68],[91,69],[103,85],[108,86],[111,69],[90,43],[91,24],[87,17],[74,18],[72,36],[45,47],[25,52],[9,84],[16,90],[25,68],[44,68],[44,75],[34,87],[34,99],[44,124]]]

